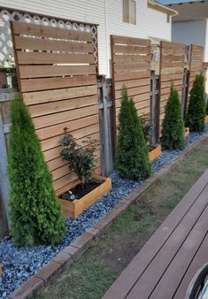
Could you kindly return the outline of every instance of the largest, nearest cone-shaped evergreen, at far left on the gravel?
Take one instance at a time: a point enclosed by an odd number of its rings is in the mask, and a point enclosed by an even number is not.
[[[64,237],[65,220],[52,187],[52,177],[35,126],[19,96],[12,101],[11,110],[8,173],[14,242],[16,246],[53,245]]]

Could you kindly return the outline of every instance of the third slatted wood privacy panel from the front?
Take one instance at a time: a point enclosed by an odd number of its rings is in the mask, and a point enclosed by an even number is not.
[[[182,96],[185,51],[183,43],[160,42],[160,129],[172,83]]]

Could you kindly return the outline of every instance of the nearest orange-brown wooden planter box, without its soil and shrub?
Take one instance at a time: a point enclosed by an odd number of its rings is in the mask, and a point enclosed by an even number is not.
[[[95,189],[93,189],[91,192],[89,192],[89,194],[87,194],[86,196],[83,196],[80,199],[76,199],[73,202],[69,202],[65,199],[58,197],[65,217],[71,217],[72,219],[76,219],[82,213],[82,211],[85,211],[87,208],[89,208],[90,205],[96,203],[97,199],[104,196],[104,194],[108,193],[111,190],[112,179],[102,176],[94,176],[94,178],[96,180],[104,180],[104,182]],[[75,180],[74,183],[71,185],[71,188],[75,187],[79,183],[79,180]],[[62,189],[60,192],[58,192],[58,196],[61,196],[68,190],[69,188],[66,188],[65,190]]]

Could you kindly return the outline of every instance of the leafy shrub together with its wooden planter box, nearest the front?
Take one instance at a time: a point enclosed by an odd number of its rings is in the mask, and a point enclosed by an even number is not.
[[[82,211],[112,188],[110,178],[94,175],[96,169],[95,150],[96,141],[88,139],[85,147],[81,147],[67,132],[61,140],[63,147],[61,156],[70,163],[69,168],[78,179],[58,192],[58,199],[66,217],[77,218]]]

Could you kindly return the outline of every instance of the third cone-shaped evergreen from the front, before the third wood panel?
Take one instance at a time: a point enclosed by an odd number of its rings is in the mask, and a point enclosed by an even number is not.
[[[184,122],[178,91],[171,87],[166,103],[165,119],[162,125],[162,146],[164,149],[184,148]]]

